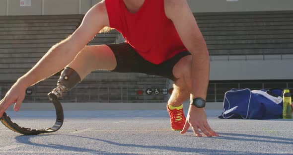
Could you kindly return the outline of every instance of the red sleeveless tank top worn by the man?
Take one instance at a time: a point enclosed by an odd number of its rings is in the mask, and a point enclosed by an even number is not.
[[[145,0],[136,13],[123,0],[105,0],[110,27],[118,30],[144,59],[160,64],[187,51],[174,24],[165,15],[164,0]]]

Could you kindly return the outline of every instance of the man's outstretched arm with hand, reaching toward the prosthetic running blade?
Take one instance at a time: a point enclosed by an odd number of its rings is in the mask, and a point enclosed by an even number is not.
[[[0,117],[12,104],[18,111],[25,96],[25,89],[48,78],[67,66],[79,51],[104,27],[109,25],[104,1],[94,5],[84,16],[81,25],[67,39],[54,45],[24,76],[19,78],[0,101]]]

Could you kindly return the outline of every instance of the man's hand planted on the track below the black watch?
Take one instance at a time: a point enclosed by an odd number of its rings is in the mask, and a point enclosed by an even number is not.
[[[197,108],[194,105],[190,105],[184,128],[180,133],[185,134],[190,126],[197,137],[202,137],[198,129],[201,129],[207,137],[219,136],[208,124],[204,108]]]

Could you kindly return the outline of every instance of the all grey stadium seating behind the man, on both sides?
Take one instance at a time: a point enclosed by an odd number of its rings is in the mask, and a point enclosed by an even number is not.
[[[194,14],[210,55],[244,59],[293,54],[293,11],[210,12]],[[0,16],[0,97],[57,42],[78,27],[83,15]],[[97,34],[88,45],[114,43],[118,32]],[[212,60],[212,59],[211,59]],[[59,74],[31,87],[25,102],[48,102]],[[166,102],[167,95],[138,95],[138,90],[165,88],[169,80],[145,74],[95,71],[63,97],[64,102]],[[271,83],[271,84],[270,84]],[[230,88],[270,88],[276,81],[211,81],[208,101],[222,101]],[[292,82],[277,83],[293,87]],[[285,84],[285,85],[284,85]]]

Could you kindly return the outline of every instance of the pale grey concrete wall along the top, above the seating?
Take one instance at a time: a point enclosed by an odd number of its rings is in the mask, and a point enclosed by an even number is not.
[[[0,15],[85,14],[101,0],[31,0],[31,6],[19,6],[19,1],[0,0]],[[293,0],[187,1],[193,12],[293,10]]]

